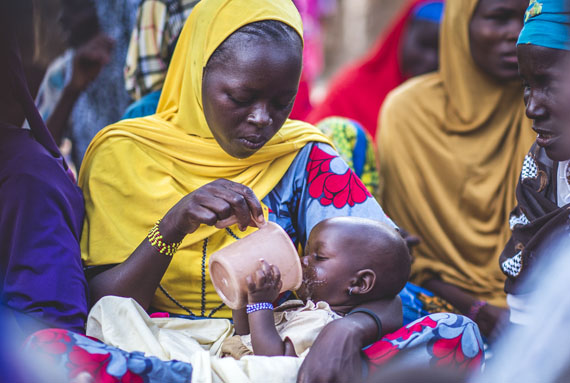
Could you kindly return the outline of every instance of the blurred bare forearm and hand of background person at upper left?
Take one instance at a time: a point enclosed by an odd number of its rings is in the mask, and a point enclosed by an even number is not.
[[[64,88],[46,123],[58,145],[61,145],[69,116],[77,99],[109,63],[112,49],[113,40],[104,34],[98,34],[75,52],[71,81]]]

